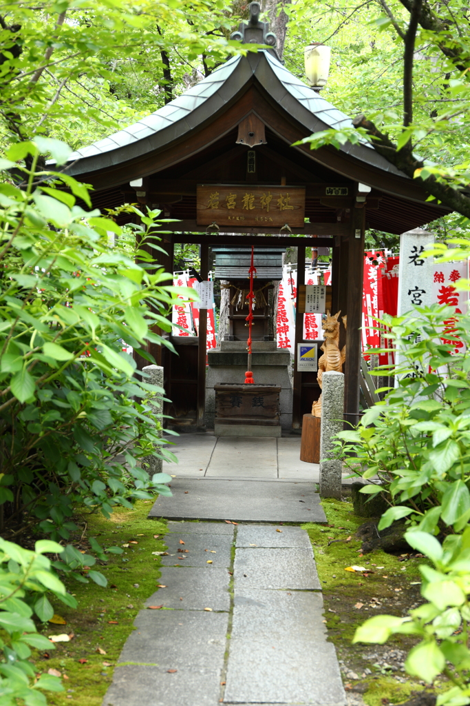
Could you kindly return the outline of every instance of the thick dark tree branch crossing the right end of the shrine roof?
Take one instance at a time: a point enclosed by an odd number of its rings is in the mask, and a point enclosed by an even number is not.
[[[392,143],[392,140],[388,137],[386,133],[382,133],[372,121],[367,120],[364,114],[358,115],[352,121],[355,128],[361,127],[366,130],[366,132],[373,138],[373,146],[379,155],[385,157],[385,159],[394,164],[397,169],[400,169],[404,174],[407,174],[410,179],[414,179],[414,173],[416,169],[421,169],[424,167],[421,160],[417,160],[413,153],[409,150],[397,151],[397,145]],[[451,186],[443,184],[438,181],[433,174],[427,179],[422,180],[423,187],[434,196],[439,201],[441,201],[448,208],[462,213],[462,215],[470,218],[470,198],[464,196],[456,189],[452,189]]]

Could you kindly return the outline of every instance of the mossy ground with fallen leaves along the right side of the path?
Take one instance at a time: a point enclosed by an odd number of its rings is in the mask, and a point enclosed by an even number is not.
[[[352,645],[352,638],[356,628],[371,616],[401,616],[421,604],[418,566],[423,559],[380,550],[362,556],[361,542],[354,533],[364,518],[353,515],[350,502],[326,500],[322,505],[328,525],[309,523],[302,527],[314,549],[328,637],[335,644],[345,688],[362,693],[369,706],[403,702],[412,691],[424,688],[402,671],[413,640],[397,635],[385,645]],[[345,570],[352,565],[373,573]]]

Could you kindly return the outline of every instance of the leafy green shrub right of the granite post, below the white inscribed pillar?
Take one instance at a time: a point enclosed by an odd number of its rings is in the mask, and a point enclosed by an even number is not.
[[[433,305],[384,319],[400,355],[397,386],[338,434],[338,453],[380,481],[361,491],[390,503],[379,530],[408,517],[433,534],[461,532],[470,519],[470,316]]]

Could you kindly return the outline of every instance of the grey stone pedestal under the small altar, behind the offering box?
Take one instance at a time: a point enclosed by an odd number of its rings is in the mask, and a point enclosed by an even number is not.
[[[247,370],[247,358],[245,341],[222,341],[221,349],[208,351],[205,424],[209,429],[214,429],[214,385],[243,384]],[[280,387],[280,427],[290,431],[292,429],[292,383],[289,351],[276,348],[276,341],[254,341],[252,345],[252,371],[256,385]]]

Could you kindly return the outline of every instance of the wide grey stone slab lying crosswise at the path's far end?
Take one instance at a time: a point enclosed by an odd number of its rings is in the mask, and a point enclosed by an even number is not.
[[[173,496],[160,496],[149,517],[235,522],[326,522],[315,485],[211,478],[175,478]],[[185,494],[185,491],[188,491]],[[299,501],[303,501],[302,503]]]

